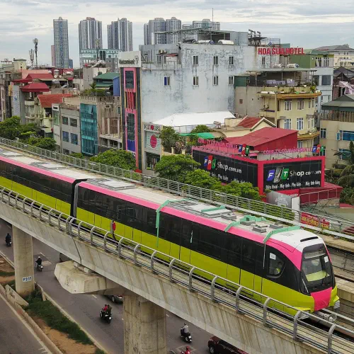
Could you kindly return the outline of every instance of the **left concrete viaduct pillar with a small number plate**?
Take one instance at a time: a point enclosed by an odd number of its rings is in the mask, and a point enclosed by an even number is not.
[[[12,238],[16,292],[26,297],[35,290],[32,236],[13,226]]]

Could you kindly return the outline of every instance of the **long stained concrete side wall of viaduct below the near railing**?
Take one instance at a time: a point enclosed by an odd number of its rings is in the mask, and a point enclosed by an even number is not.
[[[249,354],[319,354],[320,350],[307,343],[299,343],[292,336],[272,329],[256,319],[239,314],[223,304],[189,290],[148,269],[120,259],[112,253],[91,246],[69,236],[65,231],[49,227],[38,218],[31,217],[0,202],[2,219],[62,252],[103,277],[135,292],[154,304],[169,310],[186,321],[214,333]]]

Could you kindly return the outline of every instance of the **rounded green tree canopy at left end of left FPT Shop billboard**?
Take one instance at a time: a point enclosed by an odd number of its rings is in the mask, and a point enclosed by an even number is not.
[[[155,172],[161,178],[183,183],[187,173],[199,166],[200,164],[190,155],[169,155],[161,157],[155,166]]]

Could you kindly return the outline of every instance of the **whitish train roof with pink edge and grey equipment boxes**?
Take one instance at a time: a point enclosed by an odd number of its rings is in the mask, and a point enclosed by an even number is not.
[[[178,195],[172,195],[161,190],[154,190],[139,184],[122,181],[107,176],[101,176],[99,173],[90,171],[82,171],[57,161],[42,159],[33,156],[28,152],[16,152],[12,149],[0,148],[1,156],[5,159],[12,160],[18,164],[27,165],[28,169],[63,178],[66,181],[71,179],[87,180],[82,185],[94,187],[98,186],[103,193],[116,195],[118,198],[126,196],[129,200],[135,200],[140,205],[147,205],[157,209],[166,203],[166,207],[175,210],[176,214],[190,215],[198,217],[198,222],[206,224],[210,227],[217,226],[217,229],[225,229],[229,231],[232,227],[243,229],[248,234],[253,234],[256,241],[279,241],[282,245],[289,245],[289,251],[293,249],[303,249],[304,246],[311,244],[323,243],[322,239],[312,232],[307,232],[299,227],[287,227],[285,224],[271,222],[264,218],[245,215],[235,210],[229,210],[225,207],[207,204],[198,200],[185,199]],[[5,160],[4,159],[4,160]],[[89,187],[90,188],[90,187]],[[128,199],[127,199],[128,200]],[[174,212],[173,212],[174,213]]]

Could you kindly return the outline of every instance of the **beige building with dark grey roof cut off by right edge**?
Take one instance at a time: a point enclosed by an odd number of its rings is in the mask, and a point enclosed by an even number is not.
[[[319,143],[326,147],[326,167],[346,157],[354,140],[354,95],[343,95],[322,105]],[[335,155],[343,153],[343,155]]]

